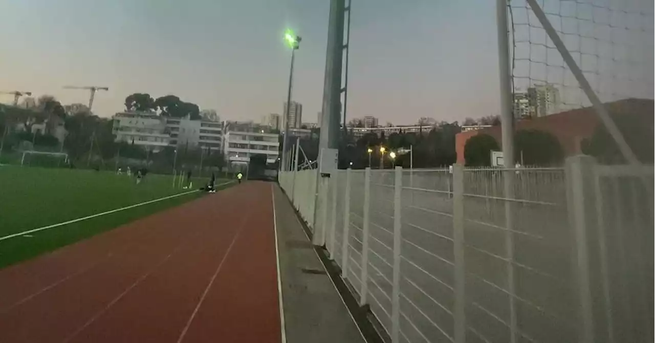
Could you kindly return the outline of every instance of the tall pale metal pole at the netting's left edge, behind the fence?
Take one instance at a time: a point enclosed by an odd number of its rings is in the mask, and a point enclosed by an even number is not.
[[[502,158],[504,162],[505,201],[505,254],[507,258],[507,283],[510,308],[510,343],[517,342],[517,314],[514,280],[514,223],[512,201],[514,198],[514,113],[512,111],[512,74],[510,72],[510,38],[508,25],[508,0],[496,0],[496,28],[498,30],[498,74],[500,81],[500,120],[502,123]]]

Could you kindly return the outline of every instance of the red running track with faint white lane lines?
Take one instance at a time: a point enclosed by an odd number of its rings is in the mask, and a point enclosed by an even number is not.
[[[0,270],[0,342],[280,342],[271,191],[235,186]]]

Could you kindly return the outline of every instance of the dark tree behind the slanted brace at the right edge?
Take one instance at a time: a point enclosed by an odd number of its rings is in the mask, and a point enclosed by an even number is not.
[[[623,113],[614,111],[610,113],[619,131],[626,139],[627,145],[637,155],[641,163],[655,163],[655,150],[652,142],[655,141],[655,130],[649,115],[644,113]],[[596,157],[603,164],[626,164],[627,161],[618,148],[612,135],[607,132],[605,125],[599,123],[590,139],[582,142],[582,152]]]

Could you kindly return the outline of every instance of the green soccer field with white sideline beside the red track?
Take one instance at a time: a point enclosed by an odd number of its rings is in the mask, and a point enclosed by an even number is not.
[[[216,184],[223,182],[226,180],[216,180]],[[205,183],[206,179],[193,178],[193,189]],[[113,172],[0,166],[0,268],[179,205],[204,192],[3,237],[184,192],[189,190],[174,188],[170,175],[148,174],[137,185],[134,177]]]

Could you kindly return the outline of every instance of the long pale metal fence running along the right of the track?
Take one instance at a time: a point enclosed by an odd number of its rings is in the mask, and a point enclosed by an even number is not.
[[[392,342],[652,342],[655,167],[640,168],[339,171],[313,230]]]

